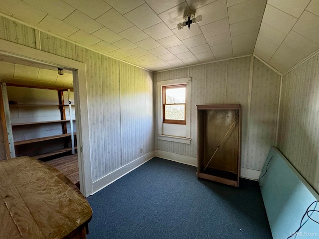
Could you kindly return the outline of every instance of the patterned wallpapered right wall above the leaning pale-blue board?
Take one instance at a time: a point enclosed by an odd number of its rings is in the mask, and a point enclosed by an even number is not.
[[[278,148],[319,192],[319,55],[283,77]]]

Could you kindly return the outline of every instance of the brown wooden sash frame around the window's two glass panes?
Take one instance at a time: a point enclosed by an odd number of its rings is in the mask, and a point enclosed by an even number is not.
[[[166,103],[166,89],[172,89],[172,88],[185,88],[185,103],[174,103],[174,104],[167,104]],[[186,83],[184,84],[175,84],[175,85],[168,85],[168,86],[162,86],[162,96],[163,96],[163,99],[162,99],[162,102],[163,102],[163,105],[162,105],[162,116],[163,116],[163,119],[162,119],[162,122],[163,123],[173,123],[173,124],[186,124],[186,104],[187,104],[187,92],[186,92]],[[165,117],[165,106],[168,105],[168,106],[172,106],[172,105],[184,105],[184,119],[183,120],[179,120],[179,119],[166,119]]]

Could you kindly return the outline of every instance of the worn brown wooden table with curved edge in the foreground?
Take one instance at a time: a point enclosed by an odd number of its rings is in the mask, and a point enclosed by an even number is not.
[[[52,166],[30,157],[0,161],[0,239],[85,239],[92,209]]]

